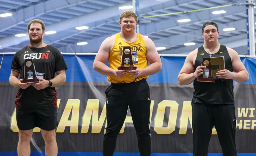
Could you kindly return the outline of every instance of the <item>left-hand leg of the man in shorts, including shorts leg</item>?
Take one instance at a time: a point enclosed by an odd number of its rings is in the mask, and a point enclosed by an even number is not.
[[[30,139],[35,127],[35,113],[32,109],[16,109],[17,126],[19,128],[18,156],[30,155]]]

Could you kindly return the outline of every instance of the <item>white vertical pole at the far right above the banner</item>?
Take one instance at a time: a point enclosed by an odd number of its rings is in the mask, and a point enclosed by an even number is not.
[[[254,36],[254,0],[247,0],[247,49],[248,55],[255,55],[255,36]]]

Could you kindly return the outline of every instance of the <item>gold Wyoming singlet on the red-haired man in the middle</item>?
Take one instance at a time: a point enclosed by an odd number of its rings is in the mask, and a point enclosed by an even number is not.
[[[110,56],[108,59],[108,65],[110,68],[116,69],[117,66],[121,65],[121,54],[123,52],[123,46],[131,46],[133,65],[138,66],[139,69],[143,69],[148,66],[148,60],[146,58],[147,47],[141,34],[138,33],[137,40],[131,43],[125,42],[120,37],[119,33],[117,33],[115,37],[115,44],[110,51]],[[139,76],[135,78],[127,73],[122,78],[108,76],[107,80],[112,83],[130,83],[139,81],[143,78],[147,79],[148,77],[149,76]]]

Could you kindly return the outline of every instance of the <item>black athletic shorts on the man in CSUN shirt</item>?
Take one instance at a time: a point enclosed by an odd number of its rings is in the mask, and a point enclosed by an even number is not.
[[[39,127],[43,130],[54,130],[58,126],[58,108],[16,109],[17,125],[20,130]]]

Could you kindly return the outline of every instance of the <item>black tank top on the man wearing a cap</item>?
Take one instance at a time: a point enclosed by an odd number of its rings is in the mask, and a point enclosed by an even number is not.
[[[233,72],[232,61],[228,54],[225,45],[220,45],[217,53],[211,54],[211,57],[224,56],[225,69]],[[197,56],[195,59],[194,71],[202,64],[203,57],[210,58],[203,46],[198,48]],[[234,104],[234,86],[232,79],[216,79],[215,83],[212,82],[197,82],[193,81],[194,92],[192,103],[202,104]]]

